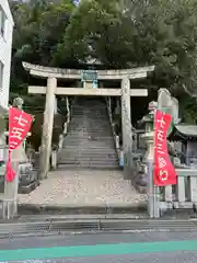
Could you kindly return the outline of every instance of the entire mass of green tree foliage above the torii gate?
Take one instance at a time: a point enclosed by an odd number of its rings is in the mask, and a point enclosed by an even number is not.
[[[11,3],[12,91],[27,82],[22,60],[79,67],[91,56],[105,68],[155,65],[151,87],[197,93],[197,0],[31,0]]]

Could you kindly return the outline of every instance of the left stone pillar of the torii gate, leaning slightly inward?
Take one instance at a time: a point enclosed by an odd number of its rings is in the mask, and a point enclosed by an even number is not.
[[[40,147],[39,179],[46,179],[49,170],[56,88],[57,88],[57,79],[48,78],[47,90],[46,90],[44,124],[43,124],[42,147]]]

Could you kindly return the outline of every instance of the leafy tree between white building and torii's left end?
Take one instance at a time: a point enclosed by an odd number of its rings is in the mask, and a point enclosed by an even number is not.
[[[74,5],[70,0],[11,2],[13,32],[11,91],[25,93],[28,77],[22,61],[49,65]]]

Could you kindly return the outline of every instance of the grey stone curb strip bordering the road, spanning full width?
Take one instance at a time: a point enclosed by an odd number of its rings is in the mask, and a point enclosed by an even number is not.
[[[152,232],[152,231],[197,231],[196,220],[108,220],[108,219],[78,219],[72,220],[35,220],[0,222],[0,239],[14,237],[44,237],[61,233],[91,233],[97,232]]]

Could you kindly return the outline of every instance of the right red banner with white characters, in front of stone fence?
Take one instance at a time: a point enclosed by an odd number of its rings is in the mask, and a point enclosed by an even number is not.
[[[167,129],[171,125],[171,115],[157,111],[154,115],[154,171],[153,183],[165,186],[177,183],[174,165],[167,151]]]

